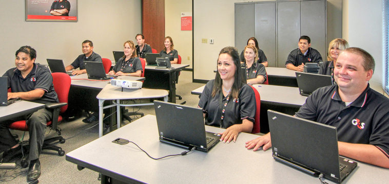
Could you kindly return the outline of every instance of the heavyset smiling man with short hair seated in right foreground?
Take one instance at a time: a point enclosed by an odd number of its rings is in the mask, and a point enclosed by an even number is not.
[[[334,68],[336,85],[314,91],[295,116],[335,126],[340,155],[389,168],[389,99],[369,87],[374,67],[366,51],[345,49]],[[247,149],[270,148],[270,133],[246,142]]]

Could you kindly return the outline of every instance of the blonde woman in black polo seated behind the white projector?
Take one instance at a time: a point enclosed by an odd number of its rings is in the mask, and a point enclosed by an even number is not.
[[[124,56],[118,60],[109,75],[141,77],[143,72],[141,60],[137,57],[134,42],[124,42]]]

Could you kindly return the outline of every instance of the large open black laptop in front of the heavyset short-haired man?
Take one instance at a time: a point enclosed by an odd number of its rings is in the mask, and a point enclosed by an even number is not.
[[[358,165],[339,156],[336,127],[267,110],[276,161],[341,183]]]

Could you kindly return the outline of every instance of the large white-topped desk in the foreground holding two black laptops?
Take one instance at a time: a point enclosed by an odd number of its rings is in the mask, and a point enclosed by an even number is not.
[[[205,126],[207,131],[223,129]],[[66,160],[123,182],[145,183],[320,183],[319,179],[276,162],[268,151],[252,151],[245,142],[258,135],[241,133],[236,143],[219,143],[208,153],[153,160],[132,143],[111,143],[118,137],[137,143],[153,157],[184,151],[159,142],[155,116],[147,115],[66,154]],[[75,169],[75,167],[74,167]],[[358,163],[344,183],[386,183],[387,169]],[[82,174],[80,172],[80,174]],[[325,180],[328,183],[332,181]]]

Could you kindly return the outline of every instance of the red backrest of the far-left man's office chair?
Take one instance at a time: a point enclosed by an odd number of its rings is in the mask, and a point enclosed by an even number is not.
[[[51,76],[53,76],[54,90],[58,96],[58,100],[60,102],[68,103],[71,84],[70,76],[65,73],[52,73]],[[68,105],[61,107],[60,113],[65,112],[67,108]]]

